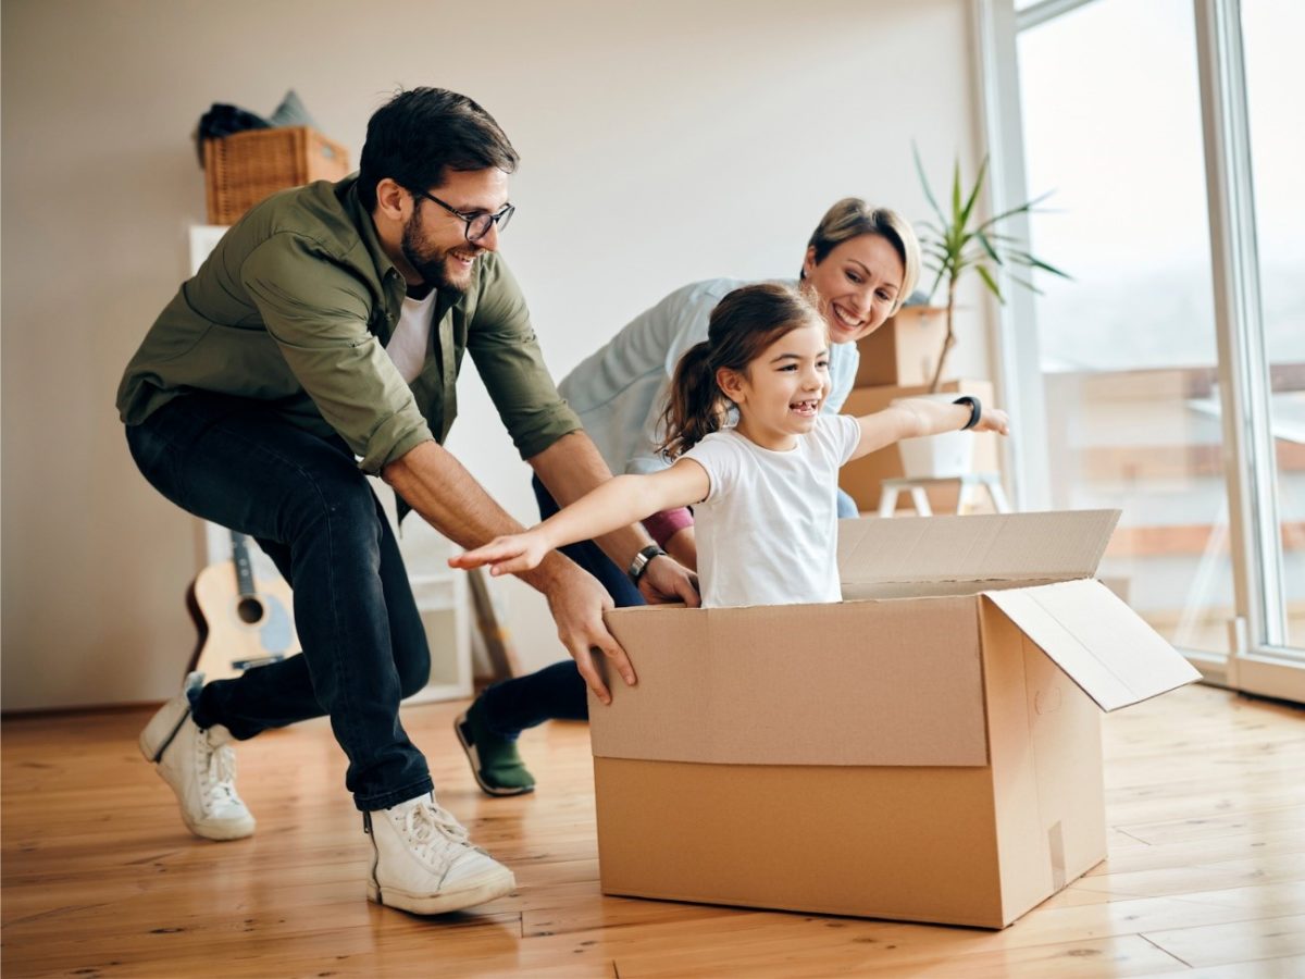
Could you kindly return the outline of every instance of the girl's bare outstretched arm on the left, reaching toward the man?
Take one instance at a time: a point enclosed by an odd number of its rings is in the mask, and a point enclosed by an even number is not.
[[[519,574],[549,551],[589,540],[673,506],[689,506],[711,489],[707,471],[693,459],[649,475],[622,475],[603,483],[523,534],[509,534],[449,559],[452,568],[489,565],[491,574]]]

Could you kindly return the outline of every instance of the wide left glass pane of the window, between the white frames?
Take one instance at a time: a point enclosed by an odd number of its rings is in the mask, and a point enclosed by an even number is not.
[[[1104,578],[1174,645],[1235,616],[1190,0],[1098,0],[1018,38],[1052,501],[1124,512]]]

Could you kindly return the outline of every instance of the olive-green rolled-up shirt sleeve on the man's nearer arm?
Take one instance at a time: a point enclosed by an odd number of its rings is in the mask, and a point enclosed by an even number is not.
[[[303,235],[273,235],[245,258],[241,282],[295,379],[328,424],[380,473],[429,426],[393,360],[368,330],[367,286]]]

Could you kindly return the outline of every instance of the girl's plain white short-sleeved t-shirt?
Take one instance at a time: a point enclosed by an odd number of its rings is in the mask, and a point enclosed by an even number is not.
[[[724,428],[684,453],[711,480],[693,508],[703,608],[843,600],[838,470],[860,440],[853,416],[818,415],[788,452]]]

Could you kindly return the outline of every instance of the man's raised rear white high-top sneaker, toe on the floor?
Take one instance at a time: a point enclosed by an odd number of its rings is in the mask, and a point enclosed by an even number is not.
[[[241,839],[254,818],[236,795],[236,753],[222,724],[201,730],[191,718],[191,691],[204,674],[185,677],[181,692],[158,709],[141,731],[141,754],[155,762],[181,804],[181,821],[205,839]]]

